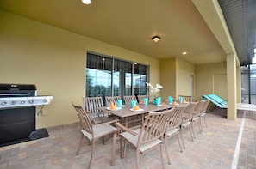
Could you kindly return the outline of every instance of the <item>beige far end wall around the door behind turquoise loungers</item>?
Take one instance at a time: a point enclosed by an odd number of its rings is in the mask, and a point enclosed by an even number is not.
[[[195,100],[201,100],[203,94],[214,94],[214,75],[227,74],[227,65],[226,63],[197,65],[195,73]]]

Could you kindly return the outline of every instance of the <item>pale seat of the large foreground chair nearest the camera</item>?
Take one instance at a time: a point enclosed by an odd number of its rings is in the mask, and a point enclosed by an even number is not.
[[[133,130],[135,133],[137,133],[138,135],[137,136],[134,136],[128,132],[123,132],[121,133],[121,136],[124,137],[126,140],[128,140],[128,142],[130,142],[131,144],[133,144],[133,146],[135,148],[137,148],[137,142],[138,142],[138,139],[139,139],[139,135],[140,135],[140,129],[135,129]],[[143,153],[144,151],[146,151],[147,149],[149,148],[153,148],[154,146],[158,145],[162,143],[161,140],[159,139],[155,139],[153,140],[152,142],[146,142],[146,143],[143,143],[143,144],[140,144],[140,152]]]

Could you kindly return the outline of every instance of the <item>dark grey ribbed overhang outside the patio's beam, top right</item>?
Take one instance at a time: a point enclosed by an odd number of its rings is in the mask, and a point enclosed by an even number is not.
[[[252,63],[256,33],[255,0],[219,0],[241,65]]]

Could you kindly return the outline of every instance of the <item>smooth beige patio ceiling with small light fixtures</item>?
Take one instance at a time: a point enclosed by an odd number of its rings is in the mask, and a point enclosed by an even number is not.
[[[150,57],[226,60],[191,0],[1,0],[0,9]],[[158,43],[154,35],[161,37]]]

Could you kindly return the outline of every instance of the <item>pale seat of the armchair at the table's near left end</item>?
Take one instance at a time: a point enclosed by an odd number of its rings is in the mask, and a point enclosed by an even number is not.
[[[98,137],[108,135],[116,130],[116,127],[113,127],[109,124],[103,124],[103,125],[95,125],[92,127],[94,138],[97,139]],[[91,133],[88,133],[86,130],[81,130],[81,132],[86,136],[89,141],[91,142],[92,136]]]

